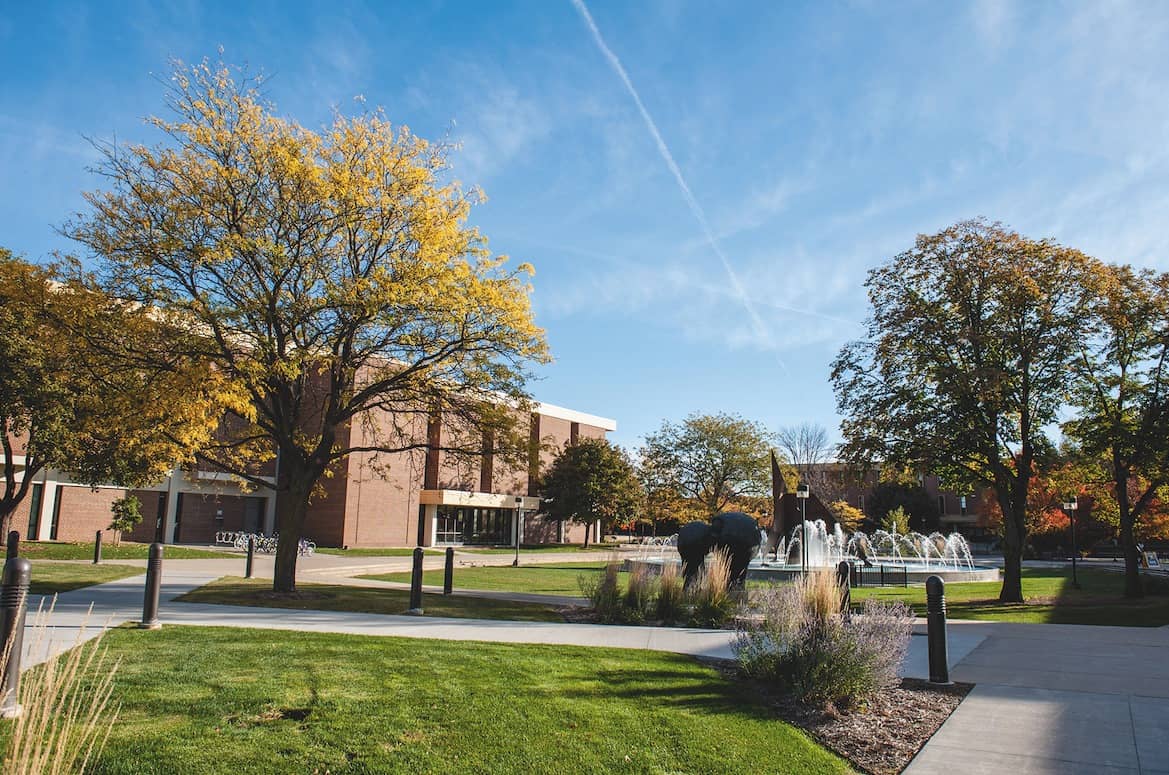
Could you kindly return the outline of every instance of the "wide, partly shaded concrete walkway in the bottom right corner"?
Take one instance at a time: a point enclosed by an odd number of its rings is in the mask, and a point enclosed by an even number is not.
[[[1169,628],[950,622],[974,691],[913,760],[931,773],[1169,774]]]

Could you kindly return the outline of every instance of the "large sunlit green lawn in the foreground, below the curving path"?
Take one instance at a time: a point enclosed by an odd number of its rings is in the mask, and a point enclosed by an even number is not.
[[[850,771],[678,655],[188,627],[105,643],[120,711],[95,775]]]

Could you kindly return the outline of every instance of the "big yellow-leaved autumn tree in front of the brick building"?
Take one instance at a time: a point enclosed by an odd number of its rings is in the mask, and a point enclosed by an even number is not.
[[[167,139],[105,147],[110,188],[64,230],[110,292],[198,333],[198,355],[248,396],[200,458],[262,486],[272,462],[275,588],[290,591],[310,498],[338,461],[434,444],[436,414],[442,449],[524,448],[511,431],[547,352],[531,267],[466,224],[478,194],[449,178],[443,146],[380,111],[312,131],[258,85],[178,63],[171,116],[151,119]]]

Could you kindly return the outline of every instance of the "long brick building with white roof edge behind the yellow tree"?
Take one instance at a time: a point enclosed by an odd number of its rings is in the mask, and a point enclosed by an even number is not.
[[[382,455],[358,452],[321,480],[324,497],[309,506],[305,538],[320,546],[511,545],[581,541],[584,526],[540,515],[535,483],[565,444],[604,438],[613,420],[539,403],[528,418],[538,449],[524,470],[486,455],[478,471],[445,459],[443,428],[426,429],[431,449]],[[358,424],[350,433],[362,433]],[[348,440],[343,440],[343,443]],[[18,440],[18,451],[19,440]],[[18,466],[23,463],[16,456]],[[126,490],[91,489],[68,475],[36,475],[13,514],[13,530],[30,540],[89,540],[110,524],[110,504]],[[271,533],[276,499],[269,489],[244,492],[228,475],[175,469],[159,484],[129,491],[141,503],[143,521],[130,540],[209,544],[220,531]]]

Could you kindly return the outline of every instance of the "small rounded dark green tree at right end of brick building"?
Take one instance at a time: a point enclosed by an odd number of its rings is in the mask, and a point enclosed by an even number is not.
[[[589,531],[637,515],[644,497],[629,456],[603,438],[582,438],[556,456],[540,482],[545,511],[552,519],[584,525]]]

